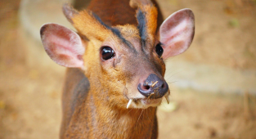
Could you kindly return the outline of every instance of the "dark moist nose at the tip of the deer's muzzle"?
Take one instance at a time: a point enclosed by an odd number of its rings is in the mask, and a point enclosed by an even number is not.
[[[156,74],[150,74],[143,84],[139,83],[137,90],[143,96],[149,98],[160,98],[168,91],[168,84]]]

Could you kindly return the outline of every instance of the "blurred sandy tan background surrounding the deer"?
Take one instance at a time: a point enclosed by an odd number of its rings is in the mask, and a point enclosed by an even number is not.
[[[70,29],[61,6],[83,0],[0,0],[0,138],[58,138],[65,68],[40,41],[47,22]],[[158,0],[168,17],[191,8],[195,38],[170,58],[171,103],[159,106],[159,138],[256,138],[256,1]]]

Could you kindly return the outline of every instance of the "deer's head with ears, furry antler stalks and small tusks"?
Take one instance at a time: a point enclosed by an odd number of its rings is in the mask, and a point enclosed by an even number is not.
[[[164,60],[190,46],[194,16],[189,9],[177,11],[156,31],[156,8],[151,3],[130,4],[138,7],[138,26],[110,27],[91,12],[65,5],[65,16],[79,33],[47,24],[41,36],[53,61],[84,71],[94,96],[121,108],[146,109],[159,105],[163,96],[168,99]]]

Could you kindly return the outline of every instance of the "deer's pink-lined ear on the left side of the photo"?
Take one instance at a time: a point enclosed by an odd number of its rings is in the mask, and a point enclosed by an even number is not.
[[[84,69],[81,38],[74,31],[62,25],[46,24],[40,29],[43,47],[57,64]]]

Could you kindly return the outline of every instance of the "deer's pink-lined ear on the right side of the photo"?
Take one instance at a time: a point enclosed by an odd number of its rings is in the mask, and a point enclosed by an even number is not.
[[[160,42],[163,43],[163,58],[176,56],[190,47],[195,34],[194,14],[190,9],[174,12],[159,28]]]

